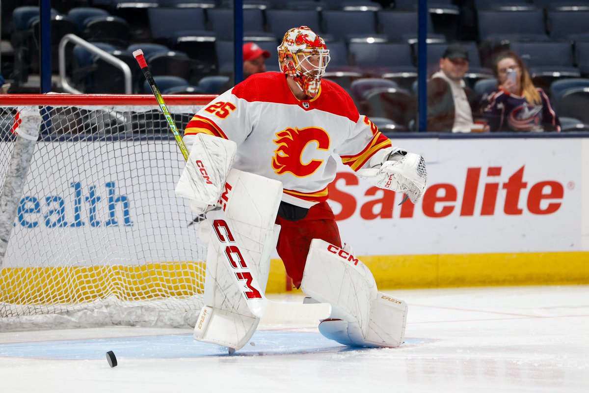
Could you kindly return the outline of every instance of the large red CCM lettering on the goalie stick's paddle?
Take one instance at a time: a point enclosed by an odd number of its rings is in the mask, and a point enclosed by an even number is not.
[[[231,267],[233,267],[234,270],[237,270],[235,272],[237,280],[246,282],[245,285],[248,290],[244,290],[243,294],[246,295],[247,299],[262,299],[262,294],[253,285],[252,272],[250,272],[249,267],[247,267],[246,260],[244,259],[243,255],[241,255],[241,250],[239,249],[239,246],[237,245],[235,238],[229,229],[229,225],[227,225],[225,220],[214,220],[213,229],[219,241],[226,244],[225,257],[227,258],[227,262],[229,262]]]

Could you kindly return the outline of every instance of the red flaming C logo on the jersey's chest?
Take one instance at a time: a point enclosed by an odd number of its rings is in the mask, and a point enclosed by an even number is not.
[[[317,143],[317,150],[327,150],[329,134],[322,128],[286,128],[276,133],[274,143],[278,145],[272,157],[272,168],[276,174],[292,173],[296,177],[310,176],[323,164],[323,160],[303,163],[303,151],[311,142]]]

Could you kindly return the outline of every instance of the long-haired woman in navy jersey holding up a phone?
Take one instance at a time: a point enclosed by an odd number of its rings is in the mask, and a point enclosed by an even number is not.
[[[532,84],[524,62],[515,52],[499,54],[493,71],[499,90],[489,95],[483,111],[491,131],[560,131],[547,95]],[[510,71],[513,79],[508,78]]]

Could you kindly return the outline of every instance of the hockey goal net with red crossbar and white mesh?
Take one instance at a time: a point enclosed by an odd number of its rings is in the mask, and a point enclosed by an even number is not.
[[[164,100],[182,131],[211,98]],[[12,130],[25,105],[37,141]],[[0,96],[0,151],[0,331],[194,326],[206,249],[174,194],[184,159],[153,96]]]

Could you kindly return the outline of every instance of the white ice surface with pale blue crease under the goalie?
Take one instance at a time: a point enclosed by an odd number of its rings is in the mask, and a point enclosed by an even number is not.
[[[409,304],[399,348],[292,324],[260,325],[233,355],[187,329],[4,332],[0,391],[589,392],[589,286],[385,292]]]

